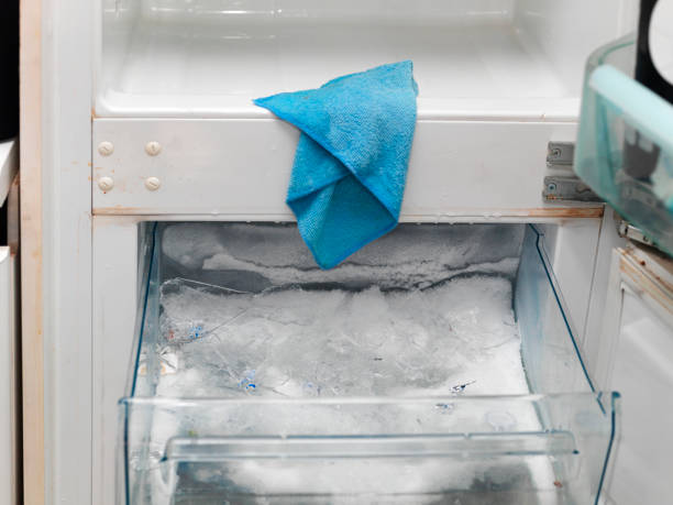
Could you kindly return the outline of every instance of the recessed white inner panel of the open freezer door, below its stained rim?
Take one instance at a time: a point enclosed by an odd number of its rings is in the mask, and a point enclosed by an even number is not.
[[[618,505],[668,503],[673,473],[673,327],[626,289],[618,339],[611,385],[622,396],[622,427],[609,495]]]

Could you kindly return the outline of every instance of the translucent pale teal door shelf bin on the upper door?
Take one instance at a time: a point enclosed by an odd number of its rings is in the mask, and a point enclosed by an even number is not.
[[[589,58],[575,171],[673,254],[673,105],[632,79],[633,37]]]

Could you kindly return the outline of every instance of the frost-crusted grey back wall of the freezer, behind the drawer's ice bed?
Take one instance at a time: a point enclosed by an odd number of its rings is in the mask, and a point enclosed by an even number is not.
[[[514,278],[520,224],[400,224],[335,268],[316,265],[297,228],[177,223],[163,232],[167,275],[258,293],[274,286],[427,287],[466,274]]]

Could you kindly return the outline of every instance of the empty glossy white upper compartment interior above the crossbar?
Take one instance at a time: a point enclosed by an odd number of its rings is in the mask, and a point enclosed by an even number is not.
[[[410,58],[419,119],[566,118],[632,0],[100,0],[96,113],[269,117],[252,98]]]

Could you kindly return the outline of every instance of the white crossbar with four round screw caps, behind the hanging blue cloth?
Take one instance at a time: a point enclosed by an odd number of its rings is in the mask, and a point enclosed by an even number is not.
[[[569,123],[419,121],[402,221],[597,217],[602,206],[542,201],[550,140],[570,140]],[[96,120],[93,212],[291,218],[285,196],[298,131],[277,120]],[[145,153],[156,141],[161,152]],[[109,177],[113,188],[100,188]],[[161,186],[148,190],[147,177]]]

